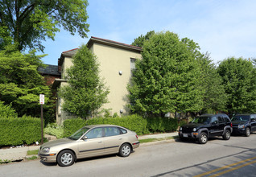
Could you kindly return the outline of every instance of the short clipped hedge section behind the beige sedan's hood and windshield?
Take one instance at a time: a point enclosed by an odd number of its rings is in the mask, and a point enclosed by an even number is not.
[[[81,129],[83,126],[85,126],[84,119],[81,119],[81,118],[66,119],[63,123],[63,128],[64,128],[63,137],[69,137],[70,135],[75,133],[76,130]]]

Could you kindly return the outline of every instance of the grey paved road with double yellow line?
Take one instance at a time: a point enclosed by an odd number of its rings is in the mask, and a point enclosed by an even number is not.
[[[0,176],[256,176],[256,134],[213,139],[205,145],[169,142],[59,167],[39,160],[0,165]]]

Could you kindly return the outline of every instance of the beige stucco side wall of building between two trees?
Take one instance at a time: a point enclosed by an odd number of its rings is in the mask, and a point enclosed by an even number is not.
[[[112,109],[110,113],[128,113],[126,107],[129,104],[126,95],[127,84],[130,81],[130,59],[141,59],[141,54],[118,47],[110,47],[94,43],[91,51],[97,56],[100,64],[100,76],[104,78],[105,85],[109,88],[109,103],[103,105],[104,109]],[[122,75],[119,72],[122,71]]]

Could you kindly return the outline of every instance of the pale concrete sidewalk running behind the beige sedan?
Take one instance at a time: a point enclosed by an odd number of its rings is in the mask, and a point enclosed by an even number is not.
[[[166,134],[148,134],[148,135],[138,136],[138,140],[148,139],[148,138],[175,137],[177,135],[178,135],[177,132],[166,133]],[[0,149],[0,160],[2,160],[2,161],[23,160],[23,159],[29,157],[29,156],[27,156],[27,150],[39,150],[39,146],[24,146],[24,147],[14,147],[14,148],[9,148],[9,149]]]

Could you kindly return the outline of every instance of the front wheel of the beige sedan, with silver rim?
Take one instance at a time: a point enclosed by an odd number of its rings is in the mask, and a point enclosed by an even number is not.
[[[71,166],[75,162],[75,154],[71,150],[63,150],[58,154],[57,163],[60,167]]]

